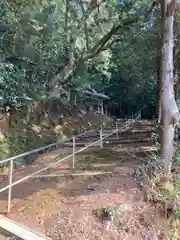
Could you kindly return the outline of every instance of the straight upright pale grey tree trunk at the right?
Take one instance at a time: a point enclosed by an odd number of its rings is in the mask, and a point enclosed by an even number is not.
[[[174,129],[179,113],[174,96],[173,81],[173,26],[175,0],[161,1],[162,14],[162,68],[161,68],[161,158],[165,173],[171,170]],[[174,7],[173,7],[174,5]]]

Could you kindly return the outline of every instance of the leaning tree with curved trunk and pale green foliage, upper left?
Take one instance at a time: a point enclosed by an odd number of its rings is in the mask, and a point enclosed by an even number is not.
[[[108,55],[103,54],[120,43],[124,32],[138,22],[136,10],[140,7],[134,1],[123,1],[117,7],[114,0],[4,0],[3,8],[2,102],[21,105],[28,99],[59,96],[62,88],[83,75],[84,70],[77,74],[82,66],[85,71],[97,62],[102,66],[102,58]],[[12,81],[8,82],[9,74]]]

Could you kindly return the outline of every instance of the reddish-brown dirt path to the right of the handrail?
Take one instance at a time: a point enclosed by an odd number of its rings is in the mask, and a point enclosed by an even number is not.
[[[164,220],[143,201],[133,179],[141,162],[127,154],[120,156],[117,149],[96,150],[93,155],[96,159],[88,160],[86,154],[79,165],[83,161],[91,169],[93,164],[101,165],[111,175],[32,179],[21,185],[22,198],[14,197],[9,217],[53,240],[167,239]],[[20,191],[18,187],[14,194]],[[102,208],[114,212],[113,221],[100,217]]]

